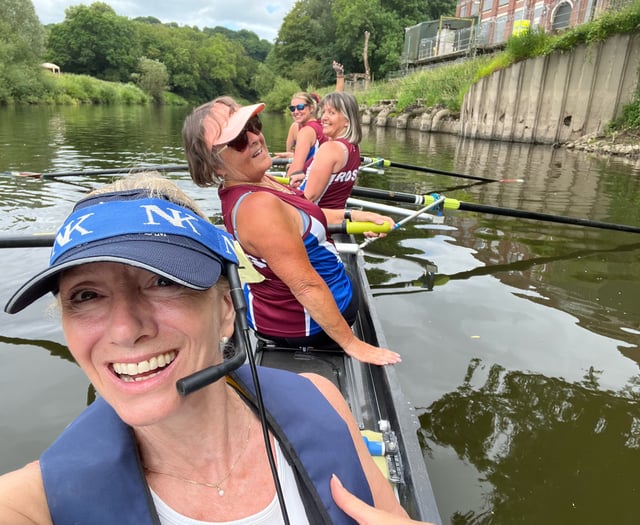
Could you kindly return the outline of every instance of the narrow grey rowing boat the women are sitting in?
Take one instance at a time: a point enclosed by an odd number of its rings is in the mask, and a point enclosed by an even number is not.
[[[351,244],[348,236],[333,235],[337,244]],[[355,334],[375,346],[388,347],[373,295],[364,271],[360,250],[341,251],[349,274],[360,295],[360,309],[353,325]],[[393,366],[375,366],[351,359],[341,350],[287,348],[265,340],[255,344],[256,363],[290,370],[316,373],[332,381],[351,407],[366,441],[384,443],[379,466],[394,485],[396,495],[413,519],[441,525],[417,431],[417,415],[405,398]],[[373,436],[373,438],[372,438]],[[375,446],[370,451],[375,456]]]

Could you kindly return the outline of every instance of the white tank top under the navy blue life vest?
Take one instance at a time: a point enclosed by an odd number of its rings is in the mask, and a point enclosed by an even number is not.
[[[300,492],[296,485],[293,469],[282,455],[280,444],[277,441],[275,449],[276,461],[278,464],[278,478],[282,485],[282,493],[287,505],[289,522],[295,523],[296,525],[308,525],[309,520],[307,519],[307,515],[304,511],[304,505],[302,504]],[[282,525],[283,523],[277,494],[274,496],[273,500],[271,500],[271,503],[261,511],[252,516],[235,521],[194,520],[173,510],[169,505],[162,501],[153,490],[151,490],[151,496],[153,497],[153,503],[158,511],[161,525]]]

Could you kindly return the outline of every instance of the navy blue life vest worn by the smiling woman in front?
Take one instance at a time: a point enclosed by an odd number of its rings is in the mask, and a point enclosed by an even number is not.
[[[249,368],[230,375],[255,406]],[[342,418],[306,378],[261,367],[259,381],[270,429],[296,473],[309,522],[355,523],[335,505],[329,489],[335,473],[351,492],[373,504]],[[101,398],[45,450],[40,469],[56,525],[160,523],[133,430]]]

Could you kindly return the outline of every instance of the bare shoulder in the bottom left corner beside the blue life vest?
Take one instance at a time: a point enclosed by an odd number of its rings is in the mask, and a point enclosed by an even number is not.
[[[0,476],[0,525],[51,523],[37,461]]]

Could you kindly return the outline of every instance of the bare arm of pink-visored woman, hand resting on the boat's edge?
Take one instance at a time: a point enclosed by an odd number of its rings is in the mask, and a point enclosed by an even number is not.
[[[238,207],[236,228],[244,250],[267,261],[296,300],[347,354],[377,365],[400,361],[396,352],[372,346],[353,334],[331,290],[309,261],[301,237],[302,219],[293,206],[270,193],[252,193]]]

